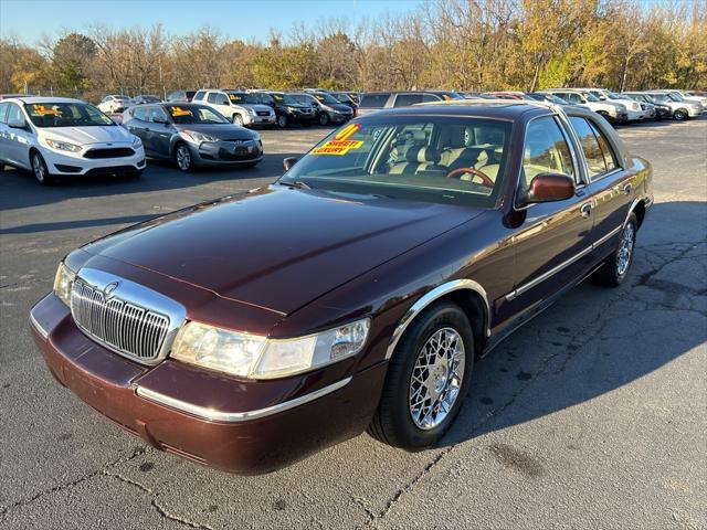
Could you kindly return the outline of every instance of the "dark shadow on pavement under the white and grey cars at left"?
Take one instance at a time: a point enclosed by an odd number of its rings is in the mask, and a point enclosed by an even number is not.
[[[40,206],[75,198],[125,195],[150,191],[167,191],[214,181],[275,180],[283,172],[282,160],[300,153],[265,155],[254,168],[198,168],[191,173],[179,171],[173,165],[148,160],[139,179],[67,177],[50,187],[42,187],[31,172],[10,169],[0,171],[0,211]],[[254,182],[251,188],[258,183]]]

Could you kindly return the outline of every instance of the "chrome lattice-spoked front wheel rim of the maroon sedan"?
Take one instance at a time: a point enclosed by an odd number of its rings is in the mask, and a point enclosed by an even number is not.
[[[450,414],[464,380],[464,341],[453,328],[435,331],[420,349],[408,400],[418,427],[434,428]]]

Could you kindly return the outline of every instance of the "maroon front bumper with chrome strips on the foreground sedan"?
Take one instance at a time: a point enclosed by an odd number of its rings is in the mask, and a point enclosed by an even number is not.
[[[146,367],[88,339],[53,294],[30,321],[50,372],[85,403],[152,447],[232,473],[271,471],[360,434],[386,375],[386,361],[246,382],[169,359]]]

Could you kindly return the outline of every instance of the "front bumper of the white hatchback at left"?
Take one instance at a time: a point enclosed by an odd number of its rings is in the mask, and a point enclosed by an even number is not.
[[[129,146],[135,153],[129,157],[116,158],[84,158],[82,152],[64,155],[53,149],[42,147],[40,150],[50,173],[59,176],[103,176],[130,174],[145,169],[145,150],[143,146]]]

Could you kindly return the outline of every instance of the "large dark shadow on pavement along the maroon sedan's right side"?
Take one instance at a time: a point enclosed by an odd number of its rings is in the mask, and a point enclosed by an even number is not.
[[[707,203],[655,204],[642,229],[624,284],[583,283],[475,364],[440,446],[600,399],[707,341]]]

